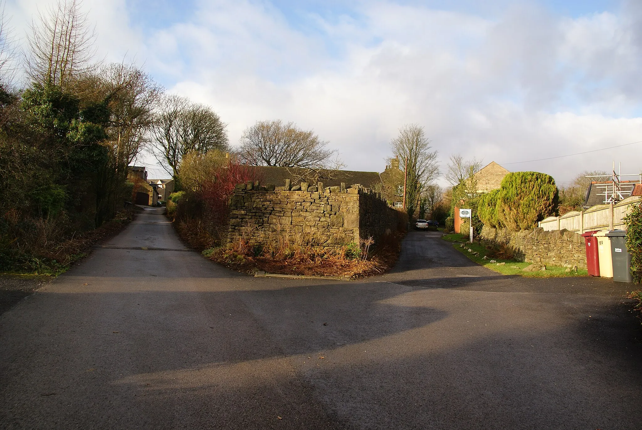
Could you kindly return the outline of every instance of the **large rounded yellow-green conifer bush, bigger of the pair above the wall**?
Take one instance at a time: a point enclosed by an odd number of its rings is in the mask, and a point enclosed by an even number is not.
[[[539,172],[507,174],[499,188],[497,217],[513,231],[537,227],[537,221],[557,210],[559,192],[555,179]]]

